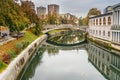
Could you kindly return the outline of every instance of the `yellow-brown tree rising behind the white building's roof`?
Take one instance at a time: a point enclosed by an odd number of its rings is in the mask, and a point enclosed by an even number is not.
[[[88,25],[88,22],[89,22],[89,17],[91,15],[100,15],[101,14],[101,11],[98,10],[97,8],[92,8],[89,10],[87,16],[84,18],[83,20],[83,25]]]

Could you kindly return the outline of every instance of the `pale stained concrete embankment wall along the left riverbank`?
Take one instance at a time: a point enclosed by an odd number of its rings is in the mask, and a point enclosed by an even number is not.
[[[18,55],[6,68],[6,70],[0,74],[0,80],[16,80],[25,64],[32,57],[36,48],[47,39],[47,35],[43,35],[32,42],[26,49],[24,49],[20,55]]]

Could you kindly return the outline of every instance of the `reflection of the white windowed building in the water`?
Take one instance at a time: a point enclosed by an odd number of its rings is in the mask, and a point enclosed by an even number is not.
[[[89,43],[88,59],[108,80],[120,80],[120,52]]]

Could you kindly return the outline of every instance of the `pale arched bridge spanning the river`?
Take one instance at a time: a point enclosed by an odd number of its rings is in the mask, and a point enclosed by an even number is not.
[[[75,25],[71,25],[71,24],[46,25],[46,26],[44,26],[43,33],[47,33],[49,31],[55,30],[55,29],[65,29],[65,28],[79,29],[81,31],[86,32],[87,26],[75,26]]]

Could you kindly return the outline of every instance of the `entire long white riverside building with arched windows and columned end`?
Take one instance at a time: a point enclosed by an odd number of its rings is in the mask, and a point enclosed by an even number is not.
[[[112,6],[112,11],[91,16],[88,33],[91,37],[120,44],[120,3]]]

